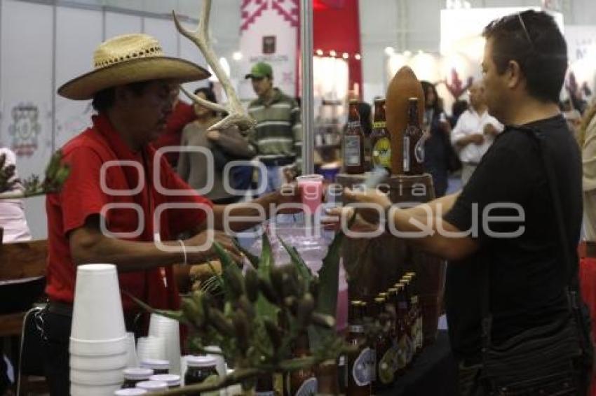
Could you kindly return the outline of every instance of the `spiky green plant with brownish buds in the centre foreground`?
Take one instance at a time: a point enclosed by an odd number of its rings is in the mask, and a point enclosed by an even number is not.
[[[329,246],[318,276],[311,273],[297,250],[281,241],[290,254],[288,265],[276,266],[269,236],[263,234],[260,257],[245,251],[252,266],[245,273],[215,243],[222,274],[215,274],[208,290],[182,298],[180,311],[144,308],[180,321],[189,328],[187,344],[193,353],[208,353],[217,345],[233,374],[205,383],[173,389],[163,395],[208,392],[241,383],[255,386],[258,376],[291,372],[334,360],[350,347],[335,332],[339,278],[339,255],[344,234],[338,232]],[[215,285],[217,283],[217,285]],[[223,304],[216,304],[210,291],[221,289]],[[308,332],[311,354],[292,358],[292,345]]]

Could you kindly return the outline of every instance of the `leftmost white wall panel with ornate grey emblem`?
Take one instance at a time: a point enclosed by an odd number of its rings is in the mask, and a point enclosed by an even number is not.
[[[52,153],[53,6],[3,0],[0,142],[22,177],[41,174]],[[26,205],[34,239],[46,237],[43,198]]]

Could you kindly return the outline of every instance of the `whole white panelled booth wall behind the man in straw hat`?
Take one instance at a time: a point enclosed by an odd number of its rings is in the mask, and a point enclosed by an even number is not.
[[[21,151],[17,169],[22,178],[43,175],[51,153],[89,125],[90,103],[63,99],[55,91],[92,68],[93,50],[105,38],[144,31],[161,41],[166,54],[205,66],[194,44],[177,34],[168,15],[171,3],[145,1],[112,1],[131,8],[119,10],[97,6],[97,1],[78,1],[88,6],[73,7],[60,1],[0,0],[0,145]],[[143,3],[144,10],[134,9]],[[229,29],[239,26],[238,3],[218,1],[212,11],[215,51],[228,59],[238,49],[238,30]],[[200,8],[194,5],[179,10],[197,17]],[[44,197],[26,199],[25,214],[34,239],[46,238]]]

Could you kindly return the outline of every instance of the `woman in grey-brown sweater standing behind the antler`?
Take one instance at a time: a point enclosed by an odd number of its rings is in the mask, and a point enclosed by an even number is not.
[[[217,102],[210,87],[198,88],[194,94],[208,101]],[[203,153],[183,152],[180,153],[178,160],[178,174],[192,188],[201,190],[207,186],[209,172],[211,172],[212,188],[202,192],[202,195],[214,204],[233,204],[242,196],[232,195],[224,189],[224,167],[231,160],[251,160],[255,157],[255,150],[236,127],[208,132],[207,129],[211,125],[222,119],[215,111],[194,104],[194,112],[196,120],[182,130],[181,145],[208,148],[213,154],[213,163],[209,163]],[[234,175],[234,170],[230,169],[229,188],[236,188]]]

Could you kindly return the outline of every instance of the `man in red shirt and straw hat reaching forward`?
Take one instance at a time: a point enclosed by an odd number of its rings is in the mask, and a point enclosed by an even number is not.
[[[235,260],[241,254],[224,229],[225,209],[213,206],[172,171],[149,143],[172,112],[173,87],[207,78],[200,66],[163,56],[151,36],[126,34],[102,43],[95,70],[62,85],[58,94],[93,99],[93,126],[63,150],[71,174],[60,193],[48,195],[48,285],[43,315],[46,376],[51,395],[69,394],[69,335],[76,266],[107,262],[119,272],[121,290],[151,306],[176,309],[179,296],[171,265],[202,263],[219,242]],[[273,193],[237,204],[237,218],[269,215],[295,196]],[[236,222],[241,230],[255,221]],[[193,235],[177,239],[180,234]],[[198,246],[205,248],[196,249]],[[123,299],[127,327],[135,307]]]

